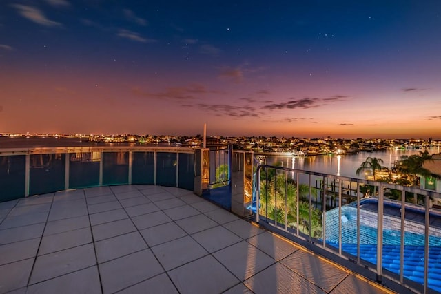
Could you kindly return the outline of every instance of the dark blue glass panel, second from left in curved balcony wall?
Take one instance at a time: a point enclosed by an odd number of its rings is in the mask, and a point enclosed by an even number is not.
[[[65,154],[30,155],[30,195],[64,190]]]

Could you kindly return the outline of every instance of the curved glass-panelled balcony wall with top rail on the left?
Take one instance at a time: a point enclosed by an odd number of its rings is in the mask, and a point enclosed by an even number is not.
[[[0,150],[0,202],[105,185],[194,189],[194,149],[54,147]]]

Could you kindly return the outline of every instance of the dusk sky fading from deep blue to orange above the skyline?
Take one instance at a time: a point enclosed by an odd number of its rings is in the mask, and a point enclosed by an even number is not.
[[[0,133],[204,123],[441,139],[441,1],[0,1]]]

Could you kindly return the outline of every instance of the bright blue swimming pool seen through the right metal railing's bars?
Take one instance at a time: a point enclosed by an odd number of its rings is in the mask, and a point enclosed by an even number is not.
[[[326,242],[338,248],[338,208],[326,212]],[[400,274],[400,228],[396,216],[383,216],[382,267]],[[403,275],[409,280],[424,284],[424,224],[406,220],[404,226]],[[342,206],[342,250],[357,256],[357,209]],[[377,213],[360,209],[360,258],[376,264]],[[441,230],[429,229],[428,286],[441,292]]]

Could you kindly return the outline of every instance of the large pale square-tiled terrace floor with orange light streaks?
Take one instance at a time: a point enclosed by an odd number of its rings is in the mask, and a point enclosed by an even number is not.
[[[0,293],[384,293],[183,189],[0,203]]]

